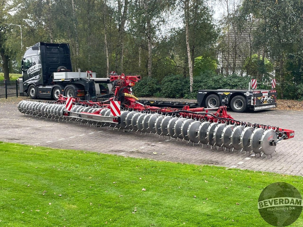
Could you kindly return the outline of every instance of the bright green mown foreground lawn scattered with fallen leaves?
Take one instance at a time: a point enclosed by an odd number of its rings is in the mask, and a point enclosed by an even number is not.
[[[300,176],[0,142],[0,226],[271,226],[257,201],[277,181],[303,192]]]

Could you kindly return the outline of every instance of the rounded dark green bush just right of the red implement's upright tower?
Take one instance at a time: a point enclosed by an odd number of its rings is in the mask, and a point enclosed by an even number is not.
[[[160,85],[154,77],[143,77],[133,90],[137,97],[155,96],[160,91]]]

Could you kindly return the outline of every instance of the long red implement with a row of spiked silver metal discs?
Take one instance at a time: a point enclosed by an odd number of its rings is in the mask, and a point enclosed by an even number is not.
[[[232,150],[270,155],[281,140],[294,137],[294,131],[272,125],[235,120],[226,106],[216,108],[155,107],[140,103],[132,87],[141,79],[138,75],[112,75],[112,92],[108,100],[93,102],[59,95],[53,102],[23,100],[18,110],[38,117],[78,121],[96,127],[112,127],[145,134],[181,139],[193,145],[210,145]],[[210,112],[214,111],[214,112]]]

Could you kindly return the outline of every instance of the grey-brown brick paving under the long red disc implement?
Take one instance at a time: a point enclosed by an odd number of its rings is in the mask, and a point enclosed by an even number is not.
[[[237,120],[275,125],[295,130],[295,138],[281,141],[272,158],[248,153],[211,150],[154,135],[89,127],[24,116],[17,110],[20,98],[0,100],[0,140],[5,142],[88,150],[129,157],[172,162],[212,164],[228,168],[252,169],[281,174],[303,175],[303,111],[269,110],[233,113]],[[0,147],[1,149],[1,147]],[[154,153],[157,154],[154,154]],[[254,155],[254,154],[252,154]]]

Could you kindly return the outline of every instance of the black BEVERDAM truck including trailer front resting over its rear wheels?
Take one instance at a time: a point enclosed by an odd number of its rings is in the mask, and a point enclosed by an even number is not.
[[[21,61],[24,93],[30,98],[58,99],[91,97],[107,93],[109,78],[96,78],[92,72],[72,72],[69,44],[38,42],[27,48]]]

